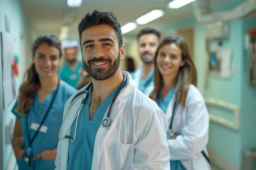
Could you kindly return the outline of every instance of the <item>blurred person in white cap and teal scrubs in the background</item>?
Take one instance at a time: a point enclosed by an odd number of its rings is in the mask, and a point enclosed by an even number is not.
[[[63,40],[62,44],[66,64],[60,71],[60,77],[63,81],[76,87],[79,82],[79,74],[85,71],[83,64],[76,59],[78,54],[78,43],[76,40]]]

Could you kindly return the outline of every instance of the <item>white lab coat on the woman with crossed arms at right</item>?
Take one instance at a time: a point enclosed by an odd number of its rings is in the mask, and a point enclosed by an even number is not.
[[[166,110],[168,128],[171,124],[173,106],[174,97]],[[201,153],[204,150],[209,157],[206,148],[209,113],[200,91],[194,85],[189,86],[186,108],[176,104],[172,129],[174,133],[181,135],[176,139],[168,139],[170,160],[180,160],[186,170],[210,170],[209,163]]]

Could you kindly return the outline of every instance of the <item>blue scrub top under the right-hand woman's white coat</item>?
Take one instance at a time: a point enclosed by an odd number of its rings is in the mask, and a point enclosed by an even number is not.
[[[162,93],[159,93],[158,98],[158,106],[163,110],[163,112],[166,114],[166,110],[168,107],[168,104],[170,103],[171,99],[173,98],[173,95],[175,93],[175,88],[172,88],[167,95],[164,97],[164,100],[162,100]],[[168,127],[169,128],[169,127]],[[171,170],[186,170],[184,166],[180,163],[180,161],[170,161]]]

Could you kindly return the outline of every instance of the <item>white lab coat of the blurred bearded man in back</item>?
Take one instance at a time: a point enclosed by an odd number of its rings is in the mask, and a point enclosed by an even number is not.
[[[140,79],[141,79],[141,75],[142,75],[142,72],[143,72],[143,66],[139,66],[138,68],[136,68],[136,70],[134,71],[134,77],[133,77],[133,80],[135,81],[136,85],[135,87],[136,88],[139,88],[139,82],[140,82]],[[154,76],[153,76],[154,77]],[[144,94],[148,97],[150,97],[150,94],[151,92],[154,90],[155,88],[155,84],[154,84],[154,81],[152,79],[152,81],[150,82],[149,86],[147,87],[147,89],[145,90]]]

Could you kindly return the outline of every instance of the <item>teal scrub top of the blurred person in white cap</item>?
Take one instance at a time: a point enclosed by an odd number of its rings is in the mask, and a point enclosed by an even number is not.
[[[64,82],[70,84],[76,88],[76,84],[79,82],[79,70],[83,69],[83,65],[78,63],[75,70],[71,70],[68,65],[65,65],[60,72],[60,77]]]

